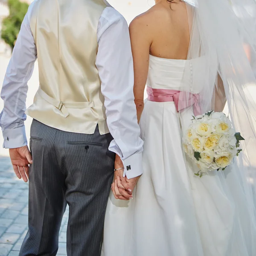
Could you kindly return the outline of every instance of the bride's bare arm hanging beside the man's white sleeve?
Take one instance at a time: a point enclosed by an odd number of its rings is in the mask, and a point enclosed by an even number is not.
[[[131,49],[134,60],[134,101],[137,118],[144,108],[144,90],[148,76],[149,50],[151,46],[150,31],[145,16],[136,17],[129,26]]]

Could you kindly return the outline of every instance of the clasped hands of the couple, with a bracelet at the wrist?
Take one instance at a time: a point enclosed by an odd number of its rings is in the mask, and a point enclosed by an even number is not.
[[[123,168],[122,160],[116,155],[115,169]],[[123,169],[115,172],[115,181],[111,185],[113,195],[116,199],[128,201],[132,199],[132,192],[139,180],[139,177],[128,180],[123,177]]]

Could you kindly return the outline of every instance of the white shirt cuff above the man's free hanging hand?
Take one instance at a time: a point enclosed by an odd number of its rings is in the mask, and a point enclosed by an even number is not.
[[[25,125],[3,131],[3,148],[20,148],[26,145]]]

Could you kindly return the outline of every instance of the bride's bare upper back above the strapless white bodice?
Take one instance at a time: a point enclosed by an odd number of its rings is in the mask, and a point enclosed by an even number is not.
[[[186,3],[175,0],[156,1],[140,15],[151,31],[150,54],[160,58],[186,59],[189,49],[189,22]]]

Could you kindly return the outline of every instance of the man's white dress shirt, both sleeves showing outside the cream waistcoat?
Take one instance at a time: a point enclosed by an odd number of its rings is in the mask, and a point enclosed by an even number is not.
[[[31,9],[21,25],[1,91],[4,108],[0,114],[0,126],[4,148],[27,145],[24,126],[27,82],[37,58],[29,25]],[[125,167],[124,176],[130,179],[142,174],[143,140],[140,139],[134,104],[134,73],[128,25],[125,18],[111,6],[102,12],[97,37],[99,48],[96,67],[102,81],[108,128],[114,138],[109,150],[121,157]]]

